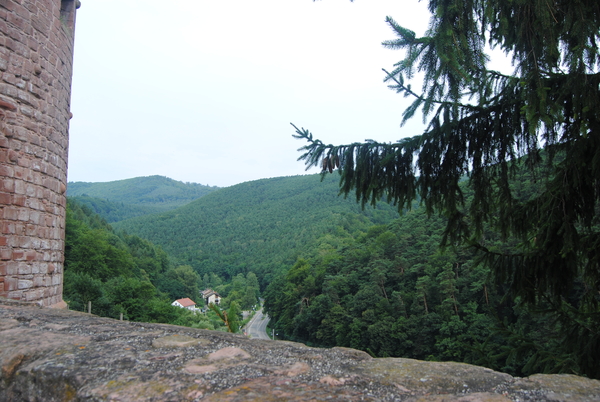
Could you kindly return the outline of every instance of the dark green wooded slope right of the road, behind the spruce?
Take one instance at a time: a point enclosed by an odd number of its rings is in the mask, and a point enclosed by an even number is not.
[[[513,186],[523,197],[539,187],[524,176]],[[363,234],[321,236],[267,287],[271,325],[284,339],[378,357],[600,377],[599,313],[580,309],[581,285],[558,305],[513,302],[509,283],[494,286],[475,249],[440,249],[445,228],[446,219],[417,207]],[[491,231],[485,245],[517,247]]]

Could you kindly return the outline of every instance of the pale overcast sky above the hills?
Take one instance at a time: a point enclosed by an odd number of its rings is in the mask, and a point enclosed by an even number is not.
[[[409,100],[383,83],[392,16],[417,0],[82,0],[69,181],[162,175],[225,187],[304,174],[298,127],[326,143],[396,141]]]

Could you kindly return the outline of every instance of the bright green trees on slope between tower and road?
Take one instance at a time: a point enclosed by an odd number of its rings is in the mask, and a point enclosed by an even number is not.
[[[90,207],[69,199],[63,299],[70,309],[87,311],[91,303],[92,312],[105,317],[226,330],[219,309],[199,314],[171,305],[189,297],[203,307],[204,288],[223,296],[221,308],[232,322],[242,322],[242,309],[252,309],[260,296],[253,272],[230,283],[214,273],[202,278],[189,265],[172,265],[149,241],[116,234]]]

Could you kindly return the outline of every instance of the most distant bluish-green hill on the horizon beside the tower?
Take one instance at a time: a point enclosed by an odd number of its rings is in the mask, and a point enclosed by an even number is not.
[[[218,189],[163,176],[147,176],[104,183],[70,182],[67,195],[88,205],[108,222],[118,222],[169,211]]]

